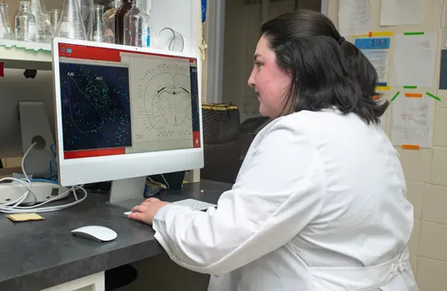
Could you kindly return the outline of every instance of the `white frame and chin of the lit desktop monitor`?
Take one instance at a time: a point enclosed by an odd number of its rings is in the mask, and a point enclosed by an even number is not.
[[[62,137],[62,108],[61,84],[59,77],[59,43],[68,43],[78,46],[92,46],[99,48],[112,48],[124,52],[149,52],[165,54],[167,56],[194,57],[197,59],[197,78],[199,92],[199,124],[200,148],[186,150],[168,150],[159,152],[142,152],[136,154],[119,154],[106,157],[89,157],[78,159],[64,159]],[[54,74],[54,114],[56,115],[56,143],[59,183],[64,186],[96,183],[101,181],[117,181],[127,179],[128,183],[119,183],[116,189],[123,190],[122,186],[130,185],[135,181],[144,181],[143,178],[152,174],[177,172],[203,168],[203,124],[201,113],[201,58],[199,55],[184,54],[181,52],[166,52],[150,48],[135,48],[110,43],[95,43],[74,39],[54,38],[52,41],[52,64]],[[131,97],[132,98],[132,97]],[[137,180],[136,180],[137,179]],[[117,185],[118,186],[118,183]],[[113,188],[113,185],[112,185]],[[126,187],[124,187],[126,188]],[[141,188],[141,187],[137,187]],[[139,193],[142,197],[143,193]],[[128,197],[130,198],[130,197]]]

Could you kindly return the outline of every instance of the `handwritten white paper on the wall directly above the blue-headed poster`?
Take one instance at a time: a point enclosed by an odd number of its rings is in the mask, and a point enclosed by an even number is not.
[[[339,0],[339,32],[344,37],[368,34],[372,29],[369,0]]]

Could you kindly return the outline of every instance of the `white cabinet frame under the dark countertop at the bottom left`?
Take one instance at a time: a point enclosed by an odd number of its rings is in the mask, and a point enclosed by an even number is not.
[[[104,272],[92,274],[41,291],[105,291]]]

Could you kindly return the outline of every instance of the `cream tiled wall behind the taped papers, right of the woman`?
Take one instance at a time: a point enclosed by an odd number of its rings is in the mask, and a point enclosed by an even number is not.
[[[385,1],[385,0],[382,0]],[[338,0],[330,1],[329,16],[337,23]],[[444,26],[443,0],[422,1],[423,21],[421,26],[380,27],[381,1],[370,1],[373,11],[373,31],[435,31],[442,43]],[[447,5],[447,1],[446,4]],[[392,45],[393,46],[393,45]],[[415,228],[410,241],[410,262],[420,291],[447,290],[447,90],[438,90],[439,53],[435,81],[430,90],[441,98],[436,103],[433,129],[433,148],[421,150],[401,150],[402,167],[407,179],[408,200],[415,208]],[[393,48],[391,49],[393,54]],[[390,62],[391,64],[391,62]],[[392,88],[386,97],[393,97]],[[413,91],[415,92],[415,91]],[[421,92],[421,93],[424,93]],[[390,134],[390,112],[386,118],[386,132]]]

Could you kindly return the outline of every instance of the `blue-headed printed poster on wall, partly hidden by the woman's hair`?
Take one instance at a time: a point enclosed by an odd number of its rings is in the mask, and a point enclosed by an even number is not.
[[[362,37],[354,40],[354,45],[373,64],[379,79],[378,86],[388,86],[390,37]]]

